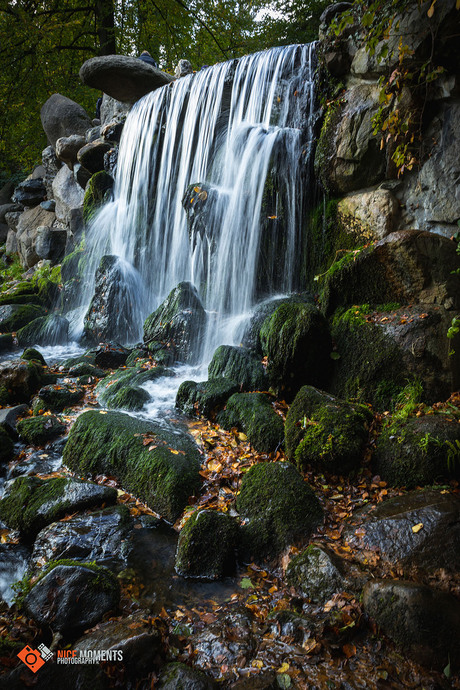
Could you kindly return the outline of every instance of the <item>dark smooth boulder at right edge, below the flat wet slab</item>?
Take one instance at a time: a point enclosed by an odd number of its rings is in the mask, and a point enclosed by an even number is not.
[[[442,670],[458,666],[460,603],[451,594],[403,580],[373,580],[363,591],[366,613],[409,657]]]

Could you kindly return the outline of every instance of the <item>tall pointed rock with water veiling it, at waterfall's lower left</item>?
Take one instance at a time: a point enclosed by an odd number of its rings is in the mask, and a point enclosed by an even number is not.
[[[139,336],[143,286],[140,275],[118,256],[103,256],[96,271],[94,296],[84,319],[86,335],[95,342]],[[137,317],[137,318],[136,318]]]

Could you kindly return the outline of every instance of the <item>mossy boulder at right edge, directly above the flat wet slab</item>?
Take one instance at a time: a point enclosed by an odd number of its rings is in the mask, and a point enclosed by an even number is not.
[[[373,468],[390,486],[408,489],[460,476],[460,424],[440,415],[411,417],[386,426]]]

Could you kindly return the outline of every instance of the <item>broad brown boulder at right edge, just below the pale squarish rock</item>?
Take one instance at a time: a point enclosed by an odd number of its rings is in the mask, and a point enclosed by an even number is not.
[[[327,271],[321,304],[330,315],[340,306],[386,302],[460,308],[456,244],[430,232],[393,232],[348,252]]]

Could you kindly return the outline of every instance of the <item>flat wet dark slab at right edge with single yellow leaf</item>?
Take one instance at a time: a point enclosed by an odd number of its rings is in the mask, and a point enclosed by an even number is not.
[[[345,530],[347,543],[377,550],[405,567],[425,571],[460,568],[460,499],[439,491],[412,491],[355,513]],[[422,527],[413,532],[416,525]],[[358,552],[359,553],[359,552]]]

